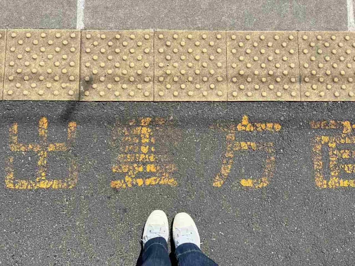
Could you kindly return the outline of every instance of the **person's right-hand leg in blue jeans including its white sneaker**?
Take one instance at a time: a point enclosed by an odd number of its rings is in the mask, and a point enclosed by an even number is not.
[[[179,266],[218,266],[200,249],[200,235],[195,222],[185,212],[177,214],[173,223],[175,255]]]

